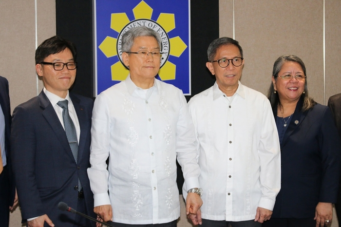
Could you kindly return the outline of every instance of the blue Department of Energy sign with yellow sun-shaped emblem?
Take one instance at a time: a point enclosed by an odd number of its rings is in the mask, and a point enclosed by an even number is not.
[[[182,4],[180,5],[181,12],[174,7],[176,5],[179,7],[174,0],[171,2],[146,1],[131,0],[123,4],[119,0],[96,0],[95,95],[128,76],[129,70],[122,62],[121,38],[126,31],[139,26],[152,28],[162,39],[161,52],[164,54],[161,58],[161,67],[157,78],[179,87],[185,95],[190,94],[189,2],[176,1]],[[187,6],[185,7],[187,13],[185,20],[183,19],[184,2]],[[127,10],[129,6],[131,8]],[[112,12],[110,12],[110,8]],[[121,11],[119,11],[120,8]],[[170,12],[167,12],[168,10]],[[110,15],[108,15],[109,12]],[[179,19],[178,15],[180,15]],[[110,73],[110,77],[108,73]]]

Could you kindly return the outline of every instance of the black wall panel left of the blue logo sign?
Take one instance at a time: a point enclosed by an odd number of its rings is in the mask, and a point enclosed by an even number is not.
[[[57,35],[77,47],[77,75],[72,92],[93,97],[93,3],[92,0],[56,0]]]

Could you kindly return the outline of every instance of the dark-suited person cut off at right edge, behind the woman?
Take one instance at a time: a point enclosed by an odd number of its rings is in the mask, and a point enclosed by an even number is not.
[[[332,111],[336,128],[338,129],[341,138],[341,94],[330,96],[328,100],[328,107]],[[335,209],[338,219],[341,220],[341,181],[339,184],[338,200],[335,204]]]

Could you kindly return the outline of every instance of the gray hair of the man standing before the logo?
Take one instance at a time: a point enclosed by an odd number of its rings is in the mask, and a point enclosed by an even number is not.
[[[140,26],[132,28],[122,35],[122,52],[130,52],[134,44],[134,39],[140,36],[154,37],[159,44],[159,48],[161,48],[162,41],[160,35],[151,28]]]

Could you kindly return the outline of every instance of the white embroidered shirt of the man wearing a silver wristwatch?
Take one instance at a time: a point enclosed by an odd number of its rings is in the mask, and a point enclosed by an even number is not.
[[[180,216],[176,158],[189,189],[199,187],[200,174],[181,90],[154,79],[144,91],[128,76],[96,97],[91,135],[88,175],[95,207],[111,204],[114,222],[126,224],[167,223]]]

